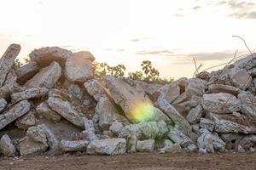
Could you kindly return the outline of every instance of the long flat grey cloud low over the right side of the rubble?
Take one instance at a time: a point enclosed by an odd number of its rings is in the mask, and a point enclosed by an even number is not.
[[[195,57],[195,59],[199,59],[199,60],[230,59],[233,56],[234,56],[234,52],[230,52],[230,51],[188,54],[189,58]]]

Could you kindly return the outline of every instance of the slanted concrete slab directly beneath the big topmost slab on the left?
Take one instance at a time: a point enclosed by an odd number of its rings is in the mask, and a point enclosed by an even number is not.
[[[61,66],[52,62],[49,66],[41,69],[32,79],[26,82],[26,87],[53,88],[61,77]]]

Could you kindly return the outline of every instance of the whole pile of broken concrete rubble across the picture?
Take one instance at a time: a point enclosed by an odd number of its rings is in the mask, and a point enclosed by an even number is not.
[[[14,69],[19,53],[0,59],[2,156],[255,150],[256,54],[160,85],[100,81],[87,51],[39,48]]]

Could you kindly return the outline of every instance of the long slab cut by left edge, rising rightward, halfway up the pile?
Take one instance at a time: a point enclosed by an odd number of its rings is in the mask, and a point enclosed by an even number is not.
[[[31,104],[27,100],[22,100],[19,103],[10,107],[9,110],[0,115],[0,129],[7,126],[10,122],[15,121],[20,116],[25,115],[31,108]]]

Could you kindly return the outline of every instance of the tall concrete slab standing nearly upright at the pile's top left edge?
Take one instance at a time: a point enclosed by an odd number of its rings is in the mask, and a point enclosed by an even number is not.
[[[11,44],[0,59],[0,87],[3,86],[3,82],[5,82],[9,70],[14,65],[15,59],[19,53],[20,45]]]

